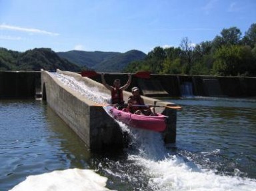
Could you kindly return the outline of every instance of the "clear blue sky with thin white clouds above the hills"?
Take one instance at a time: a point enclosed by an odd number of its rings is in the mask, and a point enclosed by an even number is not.
[[[245,33],[255,0],[0,0],[0,47],[13,51],[149,53],[212,41],[222,29]]]

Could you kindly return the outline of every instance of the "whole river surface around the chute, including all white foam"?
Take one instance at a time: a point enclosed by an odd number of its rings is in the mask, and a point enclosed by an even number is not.
[[[0,100],[0,190],[255,190],[256,100],[169,100],[175,144],[120,124],[131,145],[100,154],[42,100]]]

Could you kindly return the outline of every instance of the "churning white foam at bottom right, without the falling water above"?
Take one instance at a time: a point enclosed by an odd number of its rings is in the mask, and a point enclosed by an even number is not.
[[[136,161],[135,158],[133,160]],[[221,176],[212,171],[200,170],[173,156],[161,161],[137,158],[137,164],[144,167],[153,190],[255,190],[256,181],[237,176]]]

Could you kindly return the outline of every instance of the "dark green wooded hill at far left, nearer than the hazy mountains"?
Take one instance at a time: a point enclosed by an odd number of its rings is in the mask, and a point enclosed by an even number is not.
[[[60,58],[51,49],[33,49],[19,53],[0,48],[0,70],[7,71],[56,71],[61,69],[65,71],[81,71],[81,67]]]

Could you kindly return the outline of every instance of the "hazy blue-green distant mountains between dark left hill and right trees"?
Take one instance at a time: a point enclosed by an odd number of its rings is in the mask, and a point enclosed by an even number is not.
[[[126,53],[68,51],[59,52],[57,55],[81,67],[87,67],[98,72],[121,72],[129,63],[141,61],[147,56],[145,53],[137,50]]]

